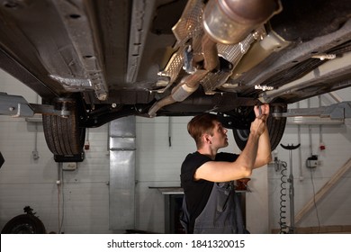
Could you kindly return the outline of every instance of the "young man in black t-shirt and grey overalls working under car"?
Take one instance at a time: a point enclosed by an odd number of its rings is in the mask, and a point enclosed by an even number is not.
[[[227,129],[216,115],[193,117],[188,132],[197,151],[185,157],[181,169],[184,188],[182,224],[187,233],[247,233],[234,180],[250,176],[252,170],[271,161],[266,119],[269,105],[254,108],[247,145],[240,155],[218,153],[228,146]]]

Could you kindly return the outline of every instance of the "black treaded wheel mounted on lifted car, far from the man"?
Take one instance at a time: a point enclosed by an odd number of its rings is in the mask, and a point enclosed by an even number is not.
[[[64,106],[65,111],[69,111],[70,114],[68,116],[42,115],[42,125],[49,150],[54,154],[57,162],[60,160],[69,162],[70,157],[72,161],[79,161],[84,158],[85,127],[79,126],[76,100],[60,99],[55,105]]]

